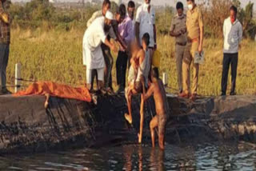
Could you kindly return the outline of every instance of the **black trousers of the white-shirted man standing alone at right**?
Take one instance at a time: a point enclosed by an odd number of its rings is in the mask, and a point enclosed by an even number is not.
[[[231,91],[235,91],[235,82],[237,78],[238,69],[238,53],[236,54],[224,54],[222,62],[222,94],[226,95],[227,78],[231,64]]]

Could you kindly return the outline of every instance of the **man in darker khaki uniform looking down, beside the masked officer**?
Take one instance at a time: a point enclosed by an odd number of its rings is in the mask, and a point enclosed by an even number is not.
[[[182,60],[186,47],[186,14],[183,14],[183,4],[176,5],[177,15],[174,16],[170,25],[170,36],[176,38],[175,56],[178,77],[178,90],[182,93]]]

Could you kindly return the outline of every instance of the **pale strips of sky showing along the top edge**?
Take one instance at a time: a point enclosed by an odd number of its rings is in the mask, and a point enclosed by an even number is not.
[[[28,2],[30,0],[11,0],[12,2]],[[57,0],[58,2],[79,2],[81,0]],[[89,1],[89,0],[86,0],[86,1]],[[127,2],[128,0],[122,0],[123,2]],[[143,0],[134,0],[134,1],[137,1],[137,2],[142,2]],[[186,0],[177,0],[178,1],[181,1],[181,2],[184,2],[184,4],[186,4]],[[197,0],[196,0],[197,1]],[[175,4],[175,0],[151,0],[151,2],[154,4],[154,5],[169,5],[169,6],[174,6]],[[248,2],[254,2],[254,10],[256,10],[256,0],[240,0],[240,2],[242,3],[242,6],[246,6],[246,4]]]

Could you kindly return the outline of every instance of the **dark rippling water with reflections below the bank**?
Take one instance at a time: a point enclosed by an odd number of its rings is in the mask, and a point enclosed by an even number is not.
[[[256,145],[147,145],[0,157],[1,170],[256,170]]]

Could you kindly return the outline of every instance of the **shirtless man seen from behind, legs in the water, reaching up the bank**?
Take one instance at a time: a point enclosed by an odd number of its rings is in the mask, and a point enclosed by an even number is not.
[[[159,78],[158,68],[152,70],[152,84],[146,94],[142,95],[142,101],[146,101],[151,95],[154,95],[154,104],[157,115],[150,121],[150,133],[152,146],[154,147],[154,128],[158,126],[158,144],[160,149],[165,148],[165,132],[168,113],[168,103],[166,100],[166,91],[162,80]]]

